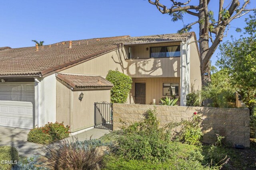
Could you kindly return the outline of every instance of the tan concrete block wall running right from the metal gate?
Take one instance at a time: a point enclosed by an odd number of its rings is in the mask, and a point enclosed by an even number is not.
[[[153,105],[113,104],[113,130],[122,126],[120,119],[128,125],[144,119],[143,114]],[[156,105],[160,127],[167,123],[189,119],[194,112],[201,116],[200,127],[204,133],[202,142],[214,143],[216,134],[225,136],[224,141],[250,147],[250,111],[248,108],[210,108]]]

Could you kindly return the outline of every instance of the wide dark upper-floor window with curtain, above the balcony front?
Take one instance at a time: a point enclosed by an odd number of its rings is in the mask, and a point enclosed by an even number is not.
[[[150,47],[150,57],[180,57],[180,45]]]

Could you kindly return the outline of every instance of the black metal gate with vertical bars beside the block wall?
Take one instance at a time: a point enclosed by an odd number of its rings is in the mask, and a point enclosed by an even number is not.
[[[113,107],[106,101],[94,103],[94,128],[113,130]]]

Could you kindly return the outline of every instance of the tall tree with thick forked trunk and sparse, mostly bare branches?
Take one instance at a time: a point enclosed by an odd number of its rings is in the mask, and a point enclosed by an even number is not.
[[[186,2],[178,2],[177,0],[170,0],[170,7],[159,2],[160,0],[148,0],[148,2],[162,13],[169,14],[172,17],[172,21],[183,21],[184,14],[190,14],[196,16],[197,20],[191,24],[184,25],[184,28],[179,30],[179,33],[188,32],[195,24],[199,24],[199,52],[200,52],[200,70],[202,77],[202,85],[208,85],[210,79],[210,58],[214,51],[217,49],[218,44],[222,42],[222,39],[226,36],[226,32],[230,28],[230,22],[236,18],[239,18],[247,14],[250,10],[246,9],[246,6],[250,3],[250,0],[231,0],[231,2],[224,6],[224,0],[219,0],[215,4],[209,5],[210,0],[197,0],[190,4],[191,0]],[[241,2],[241,3],[240,3]],[[210,10],[210,7],[216,6],[218,3],[218,15],[214,16],[214,12]],[[237,28],[237,31],[241,29]],[[214,34],[214,35],[212,35]],[[211,42],[211,44],[209,43]],[[205,76],[204,73],[208,73]]]

